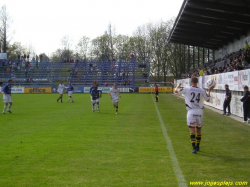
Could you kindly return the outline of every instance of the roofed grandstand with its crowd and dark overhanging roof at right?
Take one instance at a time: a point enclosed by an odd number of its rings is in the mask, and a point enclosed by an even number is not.
[[[249,0],[184,0],[168,38],[187,48],[182,78],[249,69],[249,20]]]

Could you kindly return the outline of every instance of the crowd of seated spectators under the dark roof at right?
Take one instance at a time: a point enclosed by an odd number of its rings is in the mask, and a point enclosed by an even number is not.
[[[232,71],[250,69],[250,48],[246,42],[246,46],[237,52],[225,55],[223,58],[213,60],[204,67],[200,67],[182,78],[199,77],[204,75],[213,75]]]

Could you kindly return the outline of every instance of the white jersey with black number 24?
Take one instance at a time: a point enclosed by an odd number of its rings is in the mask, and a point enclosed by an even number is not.
[[[180,94],[185,95],[185,103],[187,110],[190,109],[203,109],[203,98],[207,101],[210,97],[206,91],[198,87],[186,87],[179,90]]]

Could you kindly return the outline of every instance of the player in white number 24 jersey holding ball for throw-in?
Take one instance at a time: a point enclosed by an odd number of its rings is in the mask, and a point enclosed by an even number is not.
[[[200,141],[201,141],[201,127],[203,125],[203,98],[205,101],[209,102],[210,100],[210,91],[213,90],[214,87],[211,87],[208,90],[208,94],[202,88],[199,88],[198,78],[191,78],[190,87],[182,88],[181,83],[175,88],[175,93],[184,94],[185,95],[185,103],[186,108],[188,110],[187,113],[187,125],[190,129],[190,138],[193,146],[192,153],[197,153],[200,150]],[[195,135],[197,134],[197,136]]]

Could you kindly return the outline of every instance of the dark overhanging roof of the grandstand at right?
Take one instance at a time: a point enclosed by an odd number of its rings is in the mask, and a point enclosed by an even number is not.
[[[168,42],[218,49],[250,31],[250,0],[184,0]]]

